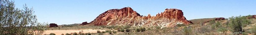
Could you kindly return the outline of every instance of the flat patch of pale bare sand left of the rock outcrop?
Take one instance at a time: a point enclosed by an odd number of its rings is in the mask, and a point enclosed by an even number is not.
[[[55,33],[56,35],[61,35],[62,33],[79,33],[79,31],[82,30],[46,30],[43,34],[50,34],[50,33]],[[100,31],[105,31],[105,30],[100,30]],[[83,30],[83,33],[97,33],[97,30],[92,30],[92,29],[85,29]]]

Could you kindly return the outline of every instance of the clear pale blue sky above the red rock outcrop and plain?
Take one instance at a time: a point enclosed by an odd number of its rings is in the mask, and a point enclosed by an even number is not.
[[[166,8],[183,11],[187,20],[213,17],[256,15],[255,0],[14,0],[16,8],[33,7],[38,22],[75,24],[91,22],[99,14],[131,7],[141,15],[164,12]]]

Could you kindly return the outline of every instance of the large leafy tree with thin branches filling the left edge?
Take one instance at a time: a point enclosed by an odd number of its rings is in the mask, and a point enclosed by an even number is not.
[[[47,24],[37,22],[33,8],[15,8],[14,1],[0,0],[0,35],[42,35]]]

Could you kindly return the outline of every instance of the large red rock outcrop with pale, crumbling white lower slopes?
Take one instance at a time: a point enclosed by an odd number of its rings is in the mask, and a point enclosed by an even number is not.
[[[141,16],[130,7],[111,9],[100,14],[90,25],[131,25],[131,26],[162,26],[173,27],[176,24],[190,24],[178,9],[165,9],[156,16]]]

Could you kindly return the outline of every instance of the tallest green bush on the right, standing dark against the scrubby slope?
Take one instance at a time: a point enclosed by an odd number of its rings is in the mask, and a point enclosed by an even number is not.
[[[250,23],[246,17],[237,16],[229,18],[229,27],[231,27],[232,32],[235,34],[242,33],[242,27]]]

